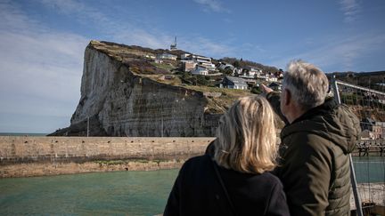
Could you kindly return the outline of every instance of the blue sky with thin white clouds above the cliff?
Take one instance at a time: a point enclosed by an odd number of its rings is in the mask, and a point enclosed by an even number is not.
[[[385,69],[384,0],[0,0],[0,132],[70,125],[90,40],[325,72]]]

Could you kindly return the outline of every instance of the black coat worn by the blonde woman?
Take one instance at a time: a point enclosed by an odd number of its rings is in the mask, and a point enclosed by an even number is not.
[[[168,197],[164,215],[289,215],[289,209],[281,181],[270,172],[235,172],[218,166],[209,155],[204,155],[184,163]]]

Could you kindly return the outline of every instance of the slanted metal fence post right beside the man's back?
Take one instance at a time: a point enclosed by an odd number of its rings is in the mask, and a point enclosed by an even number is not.
[[[338,88],[338,82],[335,80],[335,76],[332,77],[332,88],[333,88],[333,94],[334,94],[334,100],[337,101],[337,103],[341,103],[340,101],[340,92]],[[356,214],[358,216],[364,216],[362,205],[361,205],[361,198],[358,194],[358,189],[356,187],[356,172],[354,170],[353,165],[353,158],[351,154],[348,154],[349,156],[349,166],[350,166],[350,181],[353,188],[353,196],[355,197],[355,203],[356,203]]]

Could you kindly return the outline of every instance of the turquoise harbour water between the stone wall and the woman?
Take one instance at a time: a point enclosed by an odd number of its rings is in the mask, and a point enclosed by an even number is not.
[[[162,213],[178,170],[0,180],[0,215]]]

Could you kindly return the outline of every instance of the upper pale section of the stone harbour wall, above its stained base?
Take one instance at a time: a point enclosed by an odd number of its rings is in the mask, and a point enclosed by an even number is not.
[[[214,138],[0,137],[0,164],[99,159],[185,159]]]

